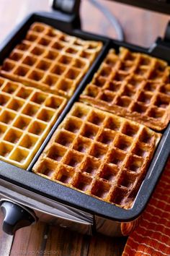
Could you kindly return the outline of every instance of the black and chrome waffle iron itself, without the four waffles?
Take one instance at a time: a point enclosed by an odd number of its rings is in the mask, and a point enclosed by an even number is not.
[[[169,1],[127,0],[120,2],[159,12],[170,12]],[[170,24],[166,28],[164,38],[158,38],[156,43],[153,43],[153,46],[150,48],[142,48],[82,31],[79,17],[80,1],[52,1],[52,5],[55,10],[54,12],[36,12],[31,14],[1,43],[0,63],[9,55],[14,46],[24,38],[33,22],[46,23],[79,38],[100,40],[103,42],[103,48],[89,69],[89,72],[86,73],[84,79],[79,84],[73,97],[68,101],[61,116],[50,130],[48,137],[32,159],[27,171],[0,161],[0,206],[4,213],[2,229],[7,234],[14,234],[17,229],[24,226],[29,226],[36,221],[45,221],[53,225],[62,226],[63,228],[79,231],[82,234],[99,232],[109,236],[128,235],[138,223],[139,217],[146,207],[169,158],[170,124],[162,132],[161,141],[158,144],[146,177],[140,186],[133,207],[129,210],[89,197],[76,190],[44,179],[42,176],[35,176],[36,174],[32,173],[32,166],[34,166],[53,132],[63,121],[73,103],[78,100],[80,93],[84,90],[87,83],[91,81],[94,72],[99,68],[109,49],[115,48],[117,50],[120,46],[124,46],[131,51],[150,54],[151,56],[170,61]]]

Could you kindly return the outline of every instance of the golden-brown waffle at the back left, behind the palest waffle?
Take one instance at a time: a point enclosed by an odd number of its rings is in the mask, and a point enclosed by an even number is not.
[[[102,48],[35,22],[4,61],[0,74],[50,93],[71,97]]]

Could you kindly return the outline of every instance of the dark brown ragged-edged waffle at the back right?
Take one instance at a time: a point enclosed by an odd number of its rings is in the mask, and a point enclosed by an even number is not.
[[[169,67],[126,48],[110,50],[81,101],[162,130],[170,119]]]

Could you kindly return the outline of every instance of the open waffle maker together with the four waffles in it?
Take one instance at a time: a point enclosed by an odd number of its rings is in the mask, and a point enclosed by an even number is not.
[[[142,48],[82,31],[80,1],[63,2],[31,14],[0,47],[2,228],[40,220],[128,235],[169,157],[170,28]],[[122,2],[169,10],[169,1]]]

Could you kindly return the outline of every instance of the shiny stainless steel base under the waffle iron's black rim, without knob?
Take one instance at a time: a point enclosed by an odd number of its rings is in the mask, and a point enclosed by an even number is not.
[[[55,202],[4,180],[1,180],[0,184],[0,203],[7,200],[24,210],[30,208],[34,211],[37,220],[78,231],[81,234],[92,235],[97,231],[107,236],[126,236],[138,223],[138,220],[129,223],[108,220]]]

